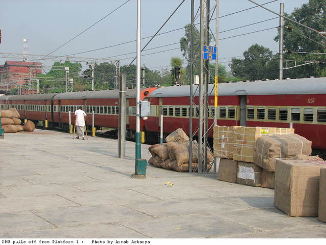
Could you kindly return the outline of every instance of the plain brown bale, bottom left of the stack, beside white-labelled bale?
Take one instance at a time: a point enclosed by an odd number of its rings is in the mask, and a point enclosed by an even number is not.
[[[238,174],[238,161],[232,159],[221,158],[218,180],[236,183],[236,177]]]

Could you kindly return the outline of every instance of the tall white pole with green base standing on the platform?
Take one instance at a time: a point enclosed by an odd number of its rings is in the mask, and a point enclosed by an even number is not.
[[[136,161],[135,173],[131,177],[146,177],[147,161],[142,159],[141,149],[141,0],[137,0],[137,72],[136,72]]]

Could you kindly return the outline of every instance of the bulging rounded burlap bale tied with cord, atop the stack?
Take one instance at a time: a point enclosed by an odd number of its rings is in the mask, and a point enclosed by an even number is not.
[[[310,140],[297,134],[262,136],[254,145],[254,162],[273,172],[277,159],[291,159],[296,155],[309,156],[311,143]]]

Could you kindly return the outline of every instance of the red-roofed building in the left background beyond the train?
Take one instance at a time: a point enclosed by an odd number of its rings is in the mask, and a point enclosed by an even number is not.
[[[14,87],[28,85],[41,71],[40,62],[6,61],[4,65],[0,65],[0,90],[8,91]]]

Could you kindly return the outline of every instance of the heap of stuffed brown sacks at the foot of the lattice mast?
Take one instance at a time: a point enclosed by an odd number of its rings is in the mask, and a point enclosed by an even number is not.
[[[154,144],[148,149],[152,157],[148,163],[155,167],[175,170],[178,172],[189,171],[189,137],[182,129],[177,129],[166,137],[166,143]],[[192,170],[198,171],[198,143],[192,144]],[[207,162],[213,161],[212,154],[208,151]],[[203,159],[203,158],[202,158]],[[207,169],[209,164],[207,164]]]

